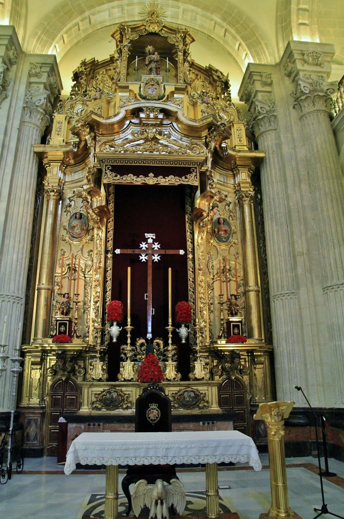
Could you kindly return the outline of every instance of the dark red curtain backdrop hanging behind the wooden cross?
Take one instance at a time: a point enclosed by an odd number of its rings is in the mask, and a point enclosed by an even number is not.
[[[147,242],[145,233],[154,233],[154,242],[161,249],[183,249],[184,255],[161,254],[152,268],[152,334],[167,343],[168,326],[168,269],[172,269],[172,326],[176,326],[174,307],[178,301],[188,301],[187,240],[185,216],[185,187],[115,185],[114,251],[112,299],[122,301],[125,307],[123,326],[127,324],[127,275],[131,267],[131,325],[134,326],[131,344],[147,334],[147,262],[141,262],[138,254],[115,254],[115,249],[139,249]],[[143,251],[144,252],[144,251]],[[155,251],[159,253],[159,251]],[[176,332],[174,332],[176,334]],[[174,343],[177,337],[174,335]],[[119,344],[126,343],[126,332],[121,331]],[[117,347],[112,345],[116,357],[114,371],[119,372]],[[118,364],[118,365],[117,365]],[[110,367],[110,366],[108,366]],[[115,373],[111,376],[113,378]],[[116,374],[117,375],[117,374]],[[110,376],[110,374],[109,374]]]

